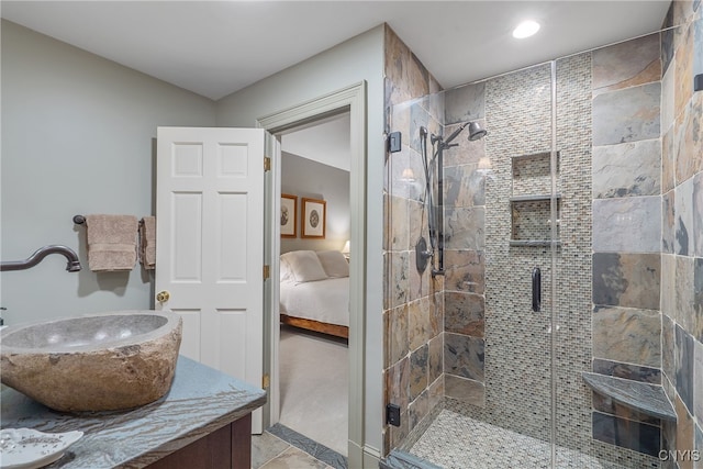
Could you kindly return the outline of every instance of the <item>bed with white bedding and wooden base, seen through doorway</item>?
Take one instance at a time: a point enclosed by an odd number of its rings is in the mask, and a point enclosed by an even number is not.
[[[286,253],[280,271],[281,323],[349,337],[349,265],[342,253]]]

